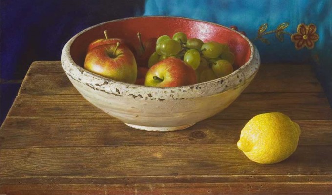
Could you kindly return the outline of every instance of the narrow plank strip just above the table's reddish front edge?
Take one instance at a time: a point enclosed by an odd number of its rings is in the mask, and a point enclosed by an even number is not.
[[[5,184],[153,184],[237,182],[332,182],[332,175],[161,175],[161,176],[24,176],[5,178]]]

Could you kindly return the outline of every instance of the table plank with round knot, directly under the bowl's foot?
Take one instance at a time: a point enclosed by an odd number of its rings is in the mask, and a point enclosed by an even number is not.
[[[332,145],[332,120],[300,120],[299,145]],[[236,144],[247,120],[204,120],[175,132],[136,130],[117,119],[7,118],[0,147]],[[110,129],[110,127],[112,129]]]

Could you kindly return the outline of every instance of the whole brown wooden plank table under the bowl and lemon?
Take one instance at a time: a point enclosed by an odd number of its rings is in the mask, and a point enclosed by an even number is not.
[[[253,116],[278,111],[302,130],[278,164],[236,142]],[[34,62],[0,130],[5,195],[332,193],[332,110],[310,65],[264,64],[223,112],[186,130],[130,128],[87,102],[60,62]]]

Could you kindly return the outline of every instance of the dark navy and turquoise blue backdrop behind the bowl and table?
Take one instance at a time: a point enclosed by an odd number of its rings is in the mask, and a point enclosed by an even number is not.
[[[296,33],[313,23],[320,36],[315,48],[296,50],[290,36],[270,44],[254,41],[262,62],[306,62],[315,68],[332,105],[332,0],[1,0],[0,115],[4,120],[33,61],[60,60],[64,44],[81,30],[118,18],[141,15],[183,16],[236,25],[254,39],[263,23],[274,30],[283,22]],[[313,60],[318,56],[319,60]]]

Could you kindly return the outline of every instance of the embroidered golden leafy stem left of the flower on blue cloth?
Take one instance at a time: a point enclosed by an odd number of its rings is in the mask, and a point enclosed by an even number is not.
[[[270,44],[269,40],[264,38],[263,36],[265,35],[269,35],[269,34],[273,34],[275,33],[275,37],[280,41],[283,42],[284,41],[284,35],[289,35],[291,36],[292,34],[289,32],[285,32],[284,30],[290,25],[290,23],[288,22],[284,22],[279,24],[279,26],[277,27],[277,29],[275,30],[270,30],[270,31],[266,31],[268,29],[268,24],[262,24],[257,32],[257,37],[254,39],[254,41],[256,40],[260,40],[261,42],[265,43],[265,44]]]

